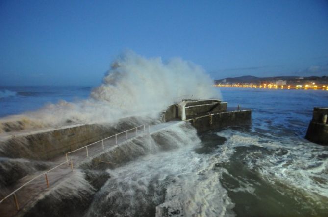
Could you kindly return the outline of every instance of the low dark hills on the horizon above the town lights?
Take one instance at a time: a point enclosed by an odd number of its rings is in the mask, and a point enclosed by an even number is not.
[[[224,78],[224,79],[219,79],[215,80],[215,83],[255,83],[258,81],[277,81],[277,80],[327,80],[327,76],[309,76],[309,77],[300,77],[300,76],[277,76],[277,77],[255,77],[251,75],[244,75],[240,77],[235,77],[235,78]]]

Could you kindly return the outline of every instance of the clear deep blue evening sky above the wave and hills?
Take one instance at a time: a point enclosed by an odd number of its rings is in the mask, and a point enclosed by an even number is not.
[[[96,86],[126,50],[213,79],[328,76],[328,1],[0,0],[0,86]]]

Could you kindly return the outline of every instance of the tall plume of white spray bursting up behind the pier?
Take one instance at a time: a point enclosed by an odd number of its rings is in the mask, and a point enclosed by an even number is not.
[[[196,98],[217,97],[212,80],[198,65],[175,58],[146,59],[128,52],[118,58],[103,84],[91,96],[113,107],[130,111],[165,109],[174,98],[191,94]]]

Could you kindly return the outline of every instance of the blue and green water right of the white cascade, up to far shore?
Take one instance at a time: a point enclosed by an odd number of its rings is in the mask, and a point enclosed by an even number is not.
[[[232,149],[220,182],[237,216],[328,216],[328,147],[304,139],[328,92],[221,89],[228,105],[252,109],[252,126],[209,132]],[[217,151],[217,150],[216,150]]]

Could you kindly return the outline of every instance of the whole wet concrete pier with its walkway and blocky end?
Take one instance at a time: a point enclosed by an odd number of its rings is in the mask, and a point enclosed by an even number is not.
[[[184,127],[179,129],[195,132],[190,124],[185,123],[189,122],[198,132],[203,132],[245,125],[251,123],[251,110],[227,111],[227,102],[217,99],[182,100],[170,106],[161,120],[168,123],[159,123],[158,119],[129,117],[110,125],[77,124],[58,129],[17,131],[15,135],[0,137],[0,157],[3,165],[9,165],[0,175],[0,181],[6,180],[5,183],[0,182],[1,189],[5,190],[0,191],[0,196],[4,197],[4,202],[0,202],[0,216],[29,217],[49,213],[52,214],[50,216],[80,216],[109,178],[107,168],[120,167],[151,152],[151,142],[158,150],[174,148],[171,145],[176,144],[174,139],[177,136],[174,135],[177,132],[176,129],[168,130],[170,126],[181,124]],[[141,129],[138,129],[139,125]],[[167,142],[168,138],[173,141]],[[108,140],[104,142],[105,139]],[[20,164],[16,166],[16,163],[21,158],[25,158],[25,163],[35,164],[35,169],[26,173],[23,170],[17,171]],[[42,164],[42,168],[39,164]],[[39,176],[42,176],[41,181]],[[74,194],[58,196],[58,192]],[[13,206],[13,202],[7,198],[13,194],[16,197],[16,193],[20,194],[20,207],[16,203],[17,207],[12,208],[12,213],[6,211],[6,215],[2,215],[3,210]],[[38,194],[44,196],[37,197]],[[81,212],[76,213],[75,207]]]

